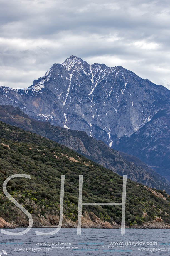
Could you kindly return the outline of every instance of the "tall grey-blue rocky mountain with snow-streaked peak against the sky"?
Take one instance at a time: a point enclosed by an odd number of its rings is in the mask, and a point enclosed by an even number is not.
[[[145,145],[141,151],[141,144],[147,143],[148,137],[142,132],[145,127],[149,129],[149,121],[156,114],[169,111],[170,91],[125,68],[110,68],[98,63],[89,65],[70,56],[62,64],[53,64],[43,77],[34,80],[26,89],[1,86],[0,104],[18,106],[30,117],[49,121],[52,125],[85,131],[113,149],[127,154],[134,152],[158,173],[169,177],[169,158],[166,158],[169,144],[163,133],[159,133],[159,122],[154,124],[154,140],[150,138],[153,146],[147,147],[149,151],[145,150]],[[161,129],[164,126],[167,126],[166,119],[161,121]],[[136,136],[139,147],[132,152],[131,145]],[[158,144],[161,143],[160,136],[165,144]],[[143,138],[146,142],[141,141]],[[127,148],[124,147],[126,140]],[[161,153],[164,145],[166,152]],[[159,152],[161,155],[157,157]]]

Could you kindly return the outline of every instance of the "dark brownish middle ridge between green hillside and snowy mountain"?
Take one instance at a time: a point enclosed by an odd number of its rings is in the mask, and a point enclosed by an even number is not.
[[[142,161],[127,154],[124,154],[125,156],[122,158],[120,155],[122,153],[119,154],[104,142],[88,136],[83,131],[73,131],[53,126],[49,122],[36,121],[21,111],[19,107],[14,108],[11,105],[0,106],[0,120],[63,144],[121,176],[127,174],[127,177],[133,181],[149,187],[164,189],[170,193],[170,182]],[[130,158],[127,159],[127,156]]]

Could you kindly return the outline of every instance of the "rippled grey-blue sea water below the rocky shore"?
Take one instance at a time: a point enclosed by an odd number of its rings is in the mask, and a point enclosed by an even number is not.
[[[48,236],[36,235],[36,230],[51,232],[53,229],[32,228],[21,236],[0,233],[0,255],[170,255],[169,229],[125,229],[125,235],[121,235],[121,229],[82,228],[81,235],[77,235],[76,228],[61,228],[55,235]],[[8,231],[21,232],[23,228]]]

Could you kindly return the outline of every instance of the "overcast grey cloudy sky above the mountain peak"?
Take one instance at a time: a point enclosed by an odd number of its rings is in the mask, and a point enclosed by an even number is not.
[[[170,89],[169,0],[0,0],[0,86],[25,88],[78,56]]]

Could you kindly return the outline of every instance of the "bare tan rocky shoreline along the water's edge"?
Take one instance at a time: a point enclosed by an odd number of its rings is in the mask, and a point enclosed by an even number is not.
[[[56,228],[59,223],[58,215],[46,215],[45,217],[41,214],[35,216],[33,214],[33,228]],[[0,228],[17,228],[17,227],[28,227],[28,220],[25,218],[24,214],[16,217],[15,221],[9,223],[6,222],[2,217],[0,217]],[[77,228],[77,221],[72,220],[63,216],[62,228]],[[82,228],[121,228],[121,225],[112,221],[110,224],[107,221],[102,221],[93,212],[84,212],[82,216]],[[170,226],[165,224],[161,217],[155,216],[154,220],[151,222],[145,222],[141,225],[133,224],[131,226],[125,226],[125,228],[149,228],[149,229],[170,229]]]

